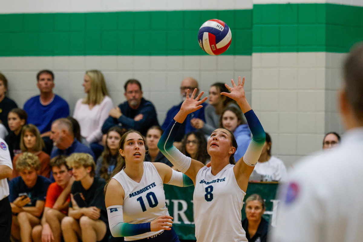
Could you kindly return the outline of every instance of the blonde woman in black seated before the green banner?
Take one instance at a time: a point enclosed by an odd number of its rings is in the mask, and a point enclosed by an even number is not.
[[[246,218],[242,221],[242,227],[248,242],[266,242],[269,223],[262,218],[265,210],[265,201],[259,194],[252,194],[246,199]]]

